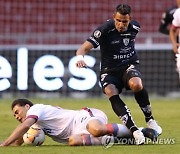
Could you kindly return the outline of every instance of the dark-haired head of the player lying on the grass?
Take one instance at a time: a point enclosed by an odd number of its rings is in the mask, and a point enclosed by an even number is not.
[[[33,106],[33,103],[27,99],[16,99],[13,101],[11,108],[14,113],[14,117],[20,121],[23,122],[26,118],[26,113],[29,110],[29,108]]]

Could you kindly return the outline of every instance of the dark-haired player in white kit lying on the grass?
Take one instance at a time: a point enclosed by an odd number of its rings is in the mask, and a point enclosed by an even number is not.
[[[94,108],[68,110],[51,105],[33,105],[27,99],[17,99],[12,103],[12,110],[21,124],[0,146],[21,145],[23,134],[34,124],[54,141],[73,146],[101,145],[104,143],[102,139],[110,137],[108,135],[132,136],[125,125],[108,123],[105,113]]]

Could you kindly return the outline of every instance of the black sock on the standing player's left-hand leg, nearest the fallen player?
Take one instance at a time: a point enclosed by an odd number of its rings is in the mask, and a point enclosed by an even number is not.
[[[112,109],[116,113],[118,117],[123,121],[127,128],[129,128],[132,132],[138,130],[136,127],[129,109],[125,105],[125,103],[120,99],[119,95],[114,95],[109,98]]]

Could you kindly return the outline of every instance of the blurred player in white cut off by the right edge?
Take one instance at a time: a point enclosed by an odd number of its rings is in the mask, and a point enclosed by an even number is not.
[[[179,74],[180,81],[180,2],[178,4],[178,9],[174,12],[174,19],[170,28],[170,39],[173,45],[173,51],[176,60],[176,71]],[[177,40],[178,38],[178,40]]]

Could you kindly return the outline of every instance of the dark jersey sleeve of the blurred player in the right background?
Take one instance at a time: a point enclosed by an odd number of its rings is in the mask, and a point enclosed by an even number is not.
[[[173,6],[172,8],[168,9],[166,12],[162,14],[159,32],[167,35],[169,34],[169,25],[172,23],[173,14],[177,8],[177,6]]]

